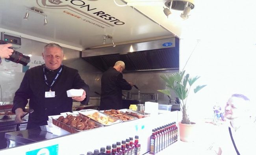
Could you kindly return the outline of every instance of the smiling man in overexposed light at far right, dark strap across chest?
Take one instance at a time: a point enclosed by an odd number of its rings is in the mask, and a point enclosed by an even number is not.
[[[218,155],[255,154],[255,126],[251,122],[251,103],[243,94],[233,94],[225,106],[225,114],[230,122],[221,130]]]

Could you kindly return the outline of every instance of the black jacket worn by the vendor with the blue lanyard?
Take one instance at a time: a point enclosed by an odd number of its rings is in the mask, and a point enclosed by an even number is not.
[[[50,87],[44,81],[43,67],[44,65],[40,65],[26,71],[20,88],[15,92],[13,99],[13,112],[17,108],[25,110],[28,99],[30,99],[29,106],[34,112],[29,114],[27,129],[46,125],[50,115],[72,112],[72,98],[67,97],[67,90],[69,89],[82,88],[86,92],[86,98],[81,103],[88,104],[89,102],[89,86],[81,79],[78,70],[64,65],[51,88],[52,91],[55,91],[55,97],[45,98],[45,92],[48,92]],[[54,77],[51,76],[50,79]],[[52,80],[48,81],[49,85],[51,83]]]

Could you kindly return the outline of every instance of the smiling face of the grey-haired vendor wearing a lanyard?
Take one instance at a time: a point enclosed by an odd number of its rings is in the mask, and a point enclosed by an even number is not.
[[[46,47],[42,55],[47,68],[55,70],[61,66],[63,52],[58,47]]]

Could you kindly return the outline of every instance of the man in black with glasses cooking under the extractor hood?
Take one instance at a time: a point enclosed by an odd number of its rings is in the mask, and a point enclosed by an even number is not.
[[[100,110],[121,109],[122,90],[131,90],[133,84],[122,77],[125,65],[117,61],[101,77]]]

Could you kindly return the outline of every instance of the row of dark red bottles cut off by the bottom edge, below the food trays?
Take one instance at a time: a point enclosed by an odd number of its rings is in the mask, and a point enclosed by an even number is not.
[[[139,136],[135,135],[135,141],[133,142],[133,137],[126,139],[122,142],[117,142],[100,148],[99,150],[94,150],[94,152],[87,152],[87,155],[140,155],[141,144],[139,144]]]

